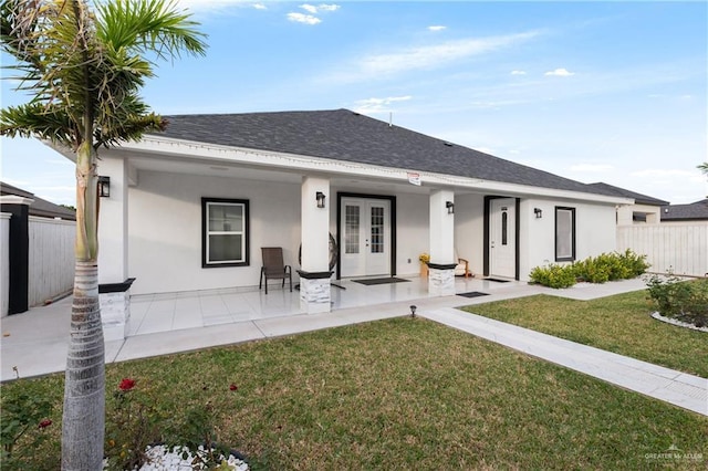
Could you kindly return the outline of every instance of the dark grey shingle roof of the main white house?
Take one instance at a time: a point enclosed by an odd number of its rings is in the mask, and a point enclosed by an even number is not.
[[[548,171],[348,109],[165,116],[157,135],[223,146],[604,195]]]

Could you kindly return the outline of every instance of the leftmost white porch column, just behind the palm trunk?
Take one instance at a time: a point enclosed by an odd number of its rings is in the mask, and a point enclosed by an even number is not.
[[[111,196],[98,198],[98,300],[103,335],[111,342],[125,338],[131,318],[127,161],[103,157],[98,175],[111,178]]]

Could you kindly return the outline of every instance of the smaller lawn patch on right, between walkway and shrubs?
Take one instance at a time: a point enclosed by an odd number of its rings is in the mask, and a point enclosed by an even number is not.
[[[646,291],[593,301],[540,294],[465,311],[708,378],[708,334],[652,318]]]

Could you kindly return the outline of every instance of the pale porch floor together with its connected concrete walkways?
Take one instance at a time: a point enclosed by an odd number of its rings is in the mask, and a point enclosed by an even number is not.
[[[468,332],[529,355],[597,377],[617,386],[708,416],[708,379],[563,341],[455,307],[548,293],[591,300],[645,287],[642,280],[550,290],[527,283],[457,279],[456,292],[430,297],[425,280],[365,286],[343,281],[332,287],[332,312],[303,314],[299,293],[269,290],[219,290],[133,296],[129,333],[106,343],[106,363],[293,335],[361,322],[416,315]],[[2,320],[1,379],[64,370],[71,299]]]

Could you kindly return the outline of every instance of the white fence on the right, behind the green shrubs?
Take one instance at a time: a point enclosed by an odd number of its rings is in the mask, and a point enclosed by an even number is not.
[[[617,227],[617,250],[646,254],[649,272],[708,275],[708,223],[663,223]]]

